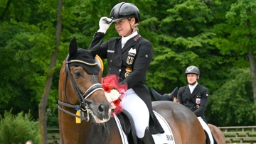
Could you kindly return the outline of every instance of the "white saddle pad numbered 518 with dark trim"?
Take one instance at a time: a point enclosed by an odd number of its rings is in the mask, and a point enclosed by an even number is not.
[[[169,144],[169,143],[175,144],[174,135],[171,131],[170,126],[166,122],[166,120],[159,113],[156,113],[156,111],[154,111],[154,114],[156,115],[156,118],[158,119],[162,128],[164,128],[164,133],[152,135],[154,138],[154,142],[156,144]],[[117,127],[119,129],[119,133],[120,133],[120,136],[122,139],[122,143],[129,144],[128,140],[127,140],[127,135],[125,135],[124,131],[122,130],[122,126],[121,126],[120,121],[117,118],[117,116],[114,116],[114,120],[117,123]]]

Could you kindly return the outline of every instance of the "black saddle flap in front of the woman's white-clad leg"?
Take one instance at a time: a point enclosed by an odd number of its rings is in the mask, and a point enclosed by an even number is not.
[[[117,118],[121,123],[122,130],[127,135],[127,140],[129,143],[138,143],[138,138],[135,131],[134,121],[132,116],[128,113],[128,111],[122,110],[121,113],[117,114]]]

